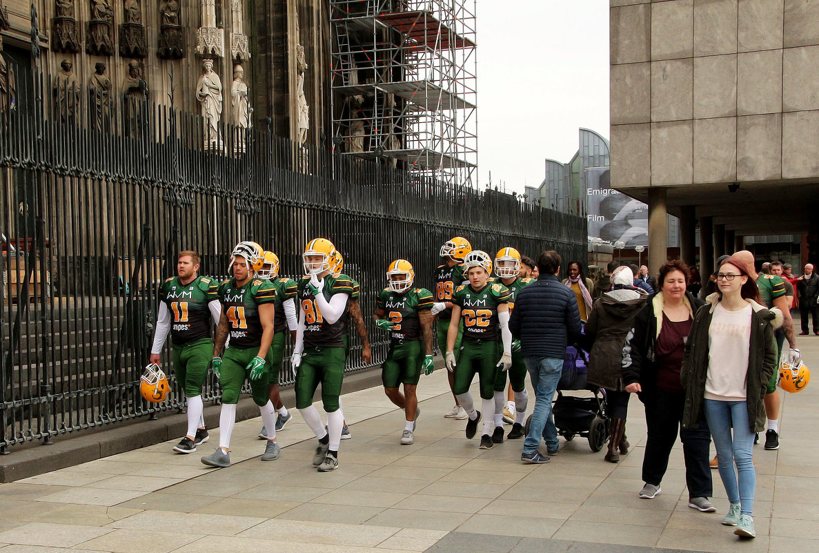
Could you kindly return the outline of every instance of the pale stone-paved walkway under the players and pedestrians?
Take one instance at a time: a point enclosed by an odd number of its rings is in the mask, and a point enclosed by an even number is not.
[[[819,338],[799,345],[819,375]],[[637,497],[645,419],[636,398],[634,448],[619,465],[580,437],[561,439],[548,465],[522,465],[521,441],[481,451],[464,421],[441,416],[452,404],[443,371],[422,377],[419,392],[413,446],[399,445],[403,417],[382,388],[344,396],[353,437],[333,473],[310,465],[315,441],[294,410],[277,461],[260,461],[254,419],[236,425],[229,469],[199,462],[218,443],[211,431],[189,456],[171,452],[174,440],[0,484],[0,553],[819,551],[819,380],[783,394],[781,449],[754,448],[752,541],[720,524],[728,505],[716,471],[717,513],[687,506],[679,444],[662,494]]]

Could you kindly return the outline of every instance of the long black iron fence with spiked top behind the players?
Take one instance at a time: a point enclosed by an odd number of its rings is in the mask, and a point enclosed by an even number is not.
[[[504,193],[301,147],[269,129],[214,131],[174,109],[173,94],[161,105],[13,70],[0,103],[2,452],[183,406],[175,383],[158,405],[138,392],[157,286],[180,250],[201,252],[201,274],[224,277],[233,245],[252,239],[296,276],[310,238],[329,238],[361,283],[367,320],[390,261],[408,259],[431,288],[441,243],[455,235],[493,255],[514,246],[585,256],[583,220]],[[378,365],[387,342],[369,329]],[[353,338],[348,370],[364,368],[356,352]],[[292,383],[289,366],[282,379]],[[215,378],[203,396],[218,401]]]

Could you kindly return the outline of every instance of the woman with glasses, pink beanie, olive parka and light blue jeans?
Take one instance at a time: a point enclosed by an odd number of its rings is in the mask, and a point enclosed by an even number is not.
[[[740,257],[720,265],[718,290],[697,311],[681,372],[683,427],[696,427],[704,415],[713,428],[719,475],[731,501],[722,524],[736,526],[734,533],[743,537],[756,537],[753,437],[765,429],[764,398],[776,369],[773,333],[782,322],[780,310],[760,305],[752,272]]]

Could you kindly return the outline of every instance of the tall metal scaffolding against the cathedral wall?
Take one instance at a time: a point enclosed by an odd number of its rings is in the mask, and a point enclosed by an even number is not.
[[[475,0],[331,0],[333,150],[477,183]]]

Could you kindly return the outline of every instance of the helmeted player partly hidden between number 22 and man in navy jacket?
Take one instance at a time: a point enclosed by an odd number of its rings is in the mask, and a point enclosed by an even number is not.
[[[495,256],[495,274],[498,275],[500,283],[509,290],[509,316],[514,308],[514,298],[523,287],[532,283],[532,279],[521,278],[521,255],[514,247],[501,248]],[[509,385],[514,392],[514,424],[509,431],[507,438],[517,440],[524,436],[523,423],[526,420],[526,408],[529,401],[529,394],[526,391],[526,364],[523,362],[523,353],[520,349],[520,340],[512,341],[512,366],[509,368]],[[495,432],[492,434],[492,441],[500,443],[503,441],[503,410],[504,410],[504,390],[506,388],[506,373],[498,371],[498,378],[495,381]],[[500,428],[500,433],[498,433]],[[497,441],[500,437],[500,442]]]

